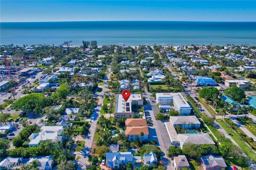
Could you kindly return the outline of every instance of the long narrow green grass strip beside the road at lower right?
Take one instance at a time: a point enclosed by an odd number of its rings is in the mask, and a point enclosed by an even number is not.
[[[240,148],[242,148],[242,150],[244,150],[244,152],[254,161],[256,162],[256,154],[253,152],[250,152],[250,147],[247,146],[246,144],[244,144],[244,141],[240,138],[240,136],[238,136],[238,134],[236,134],[236,132],[234,132],[234,130],[232,130],[231,132],[231,128],[226,126],[226,123],[224,121],[221,121],[221,119],[216,119],[218,121],[218,123],[222,126],[222,128],[224,128],[224,130],[226,130],[226,132],[228,132],[230,134],[230,136],[234,139],[234,141],[240,146]]]

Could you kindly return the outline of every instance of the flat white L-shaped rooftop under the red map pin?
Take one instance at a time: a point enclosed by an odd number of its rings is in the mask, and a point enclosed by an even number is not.
[[[143,100],[140,94],[131,94],[127,101],[124,100],[122,94],[118,94],[116,97],[116,113],[132,112],[132,101]]]

